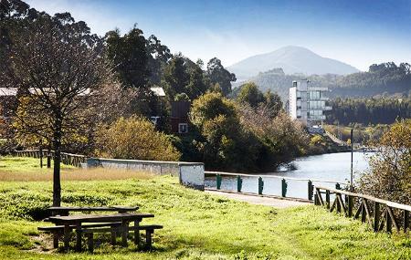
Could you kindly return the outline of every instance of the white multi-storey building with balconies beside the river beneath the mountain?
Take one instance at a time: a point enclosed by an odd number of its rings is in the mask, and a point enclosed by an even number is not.
[[[292,81],[290,88],[290,117],[307,126],[320,125],[325,120],[324,111],[331,110],[326,105],[328,88],[313,87],[309,80]]]

